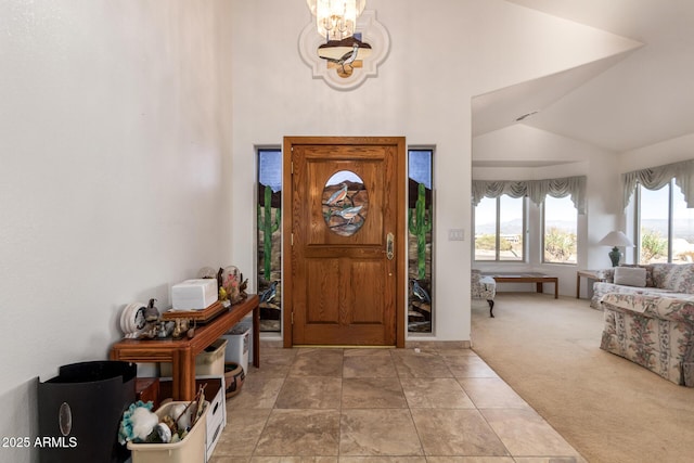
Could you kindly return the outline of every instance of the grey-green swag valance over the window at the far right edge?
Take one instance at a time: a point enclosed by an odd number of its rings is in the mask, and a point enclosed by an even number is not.
[[[687,208],[694,208],[694,159],[682,163],[667,164],[665,166],[650,167],[621,175],[625,183],[624,207],[631,201],[631,195],[641,183],[648,190],[659,190],[674,179],[686,202]]]

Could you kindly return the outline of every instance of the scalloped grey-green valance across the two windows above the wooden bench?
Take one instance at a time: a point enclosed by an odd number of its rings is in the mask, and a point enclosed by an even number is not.
[[[528,196],[538,206],[549,194],[553,197],[571,196],[578,214],[586,214],[586,176],[565,177],[545,180],[473,180],[473,205],[477,206],[483,197]]]

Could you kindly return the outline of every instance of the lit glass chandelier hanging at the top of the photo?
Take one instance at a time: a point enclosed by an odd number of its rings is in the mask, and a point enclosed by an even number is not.
[[[364,11],[367,0],[306,0],[316,27],[326,41],[342,40],[355,34],[357,17]]]

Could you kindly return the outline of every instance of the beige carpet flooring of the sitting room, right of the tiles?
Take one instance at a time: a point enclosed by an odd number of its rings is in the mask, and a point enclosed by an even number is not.
[[[501,293],[491,319],[473,301],[473,349],[589,462],[694,462],[694,388],[601,350],[588,304]]]

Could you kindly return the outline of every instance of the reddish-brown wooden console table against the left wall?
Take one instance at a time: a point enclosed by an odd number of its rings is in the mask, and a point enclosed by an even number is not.
[[[123,339],[111,347],[111,359],[130,362],[171,362],[174,400],[195,397],[195,356],[253,311],[253,364],[260,366],[260,309],[258,296],[249,294],[205,325],[195,329],[192,339]]]

